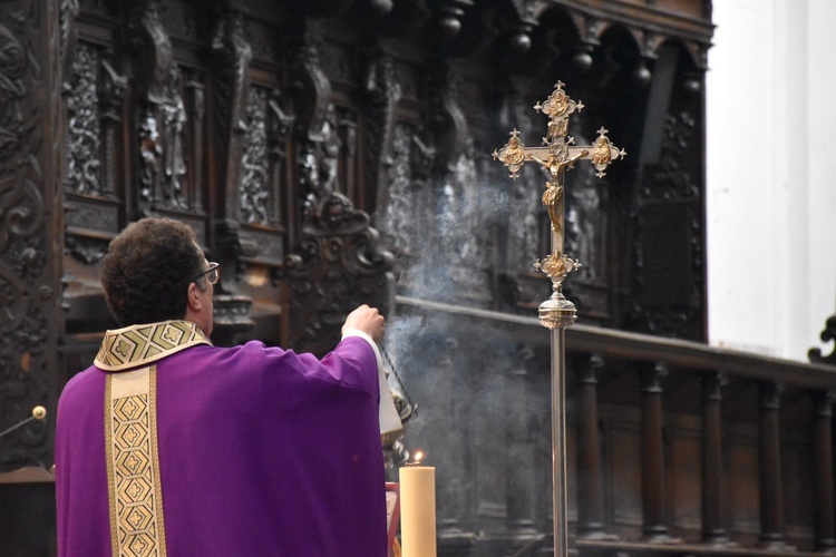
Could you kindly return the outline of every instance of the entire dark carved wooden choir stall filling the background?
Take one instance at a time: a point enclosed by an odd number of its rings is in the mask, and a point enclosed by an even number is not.
[[[572,551],[836,551],[834,356],[706,344],[712,30],[710,0],[0,0],[0,430],[47,410],[0,438],[0,547],[56,551],[58,395],[115,326],[109,240],[159,215],[221,263],[215,344],[385,311],[388,473],[436,468],[438,554],[550,554],[550,215],[492,153],[562,81],[575,144],[628,153],[565,174]]]

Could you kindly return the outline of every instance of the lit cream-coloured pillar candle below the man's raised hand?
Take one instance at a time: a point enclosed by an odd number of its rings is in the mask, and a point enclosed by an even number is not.
[[[402,557],[436,557],[436,469],[400,469],[400,541]]]

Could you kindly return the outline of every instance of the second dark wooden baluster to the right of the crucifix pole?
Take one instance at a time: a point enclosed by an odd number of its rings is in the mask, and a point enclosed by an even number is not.
[[[668,367],[657,363],[642,372],[642,532],[644,541],[668,544],[664,442],[662,437],[662,380]]]

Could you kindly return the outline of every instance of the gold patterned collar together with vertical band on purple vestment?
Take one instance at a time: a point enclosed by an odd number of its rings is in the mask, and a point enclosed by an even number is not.
[[[211,344],[197,325],[166,321],[108,331],[96,356],[114,372],[105,384],[105,450],[115,556],[166,555],[154,362],[196,344]]]

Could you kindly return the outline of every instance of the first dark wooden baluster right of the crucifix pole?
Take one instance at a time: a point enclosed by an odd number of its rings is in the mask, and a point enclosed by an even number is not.
[[[597,375],[604,364],[591,354],[577,372],[577,537],[618,539],[604,532],[604,490],[597,422]]]

